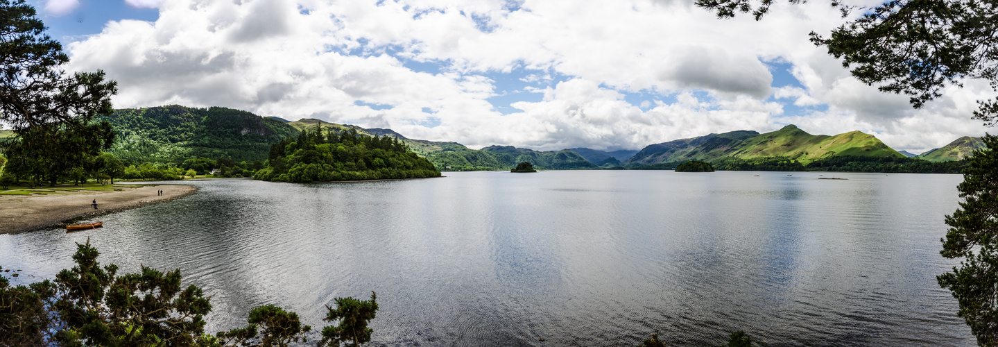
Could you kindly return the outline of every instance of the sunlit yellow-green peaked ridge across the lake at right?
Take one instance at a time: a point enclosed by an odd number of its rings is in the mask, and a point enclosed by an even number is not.
[[[851,131],[834,136],[811,135],[794,125],[759,134],[733,131],[654,144],[624,162],[628,166],[702,160],[716,163],[728,158],[781,158],[807,164],[832,156],[904,157],[873,135]]]

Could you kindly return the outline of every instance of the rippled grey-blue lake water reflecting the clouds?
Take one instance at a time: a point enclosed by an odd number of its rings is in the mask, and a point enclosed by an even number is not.
[[[935,280],[956,264],[939,238],[960,175],[445,175],[189,181],[194,195],[100,230],[0,235],[0,266],[52,278],[90,238],[120,273],[182,268],[212,295],[211,332],[263,304],[320,330],[334,297],[376,291],[374,346],[703,345],[739,329],[774,346],[975,344]]]

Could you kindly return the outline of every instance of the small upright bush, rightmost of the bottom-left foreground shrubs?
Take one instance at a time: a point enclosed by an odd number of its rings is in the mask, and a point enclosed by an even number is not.
[[[322,340],[318,346],[359,347],[371,340],[373,330],[367,327],[377,312],[377,295],[371,292],[370,300],[354,298],[336,298],[336,308],[329,306],[325,318],[327,322],[339,321],[339,325],[322,328]]]

